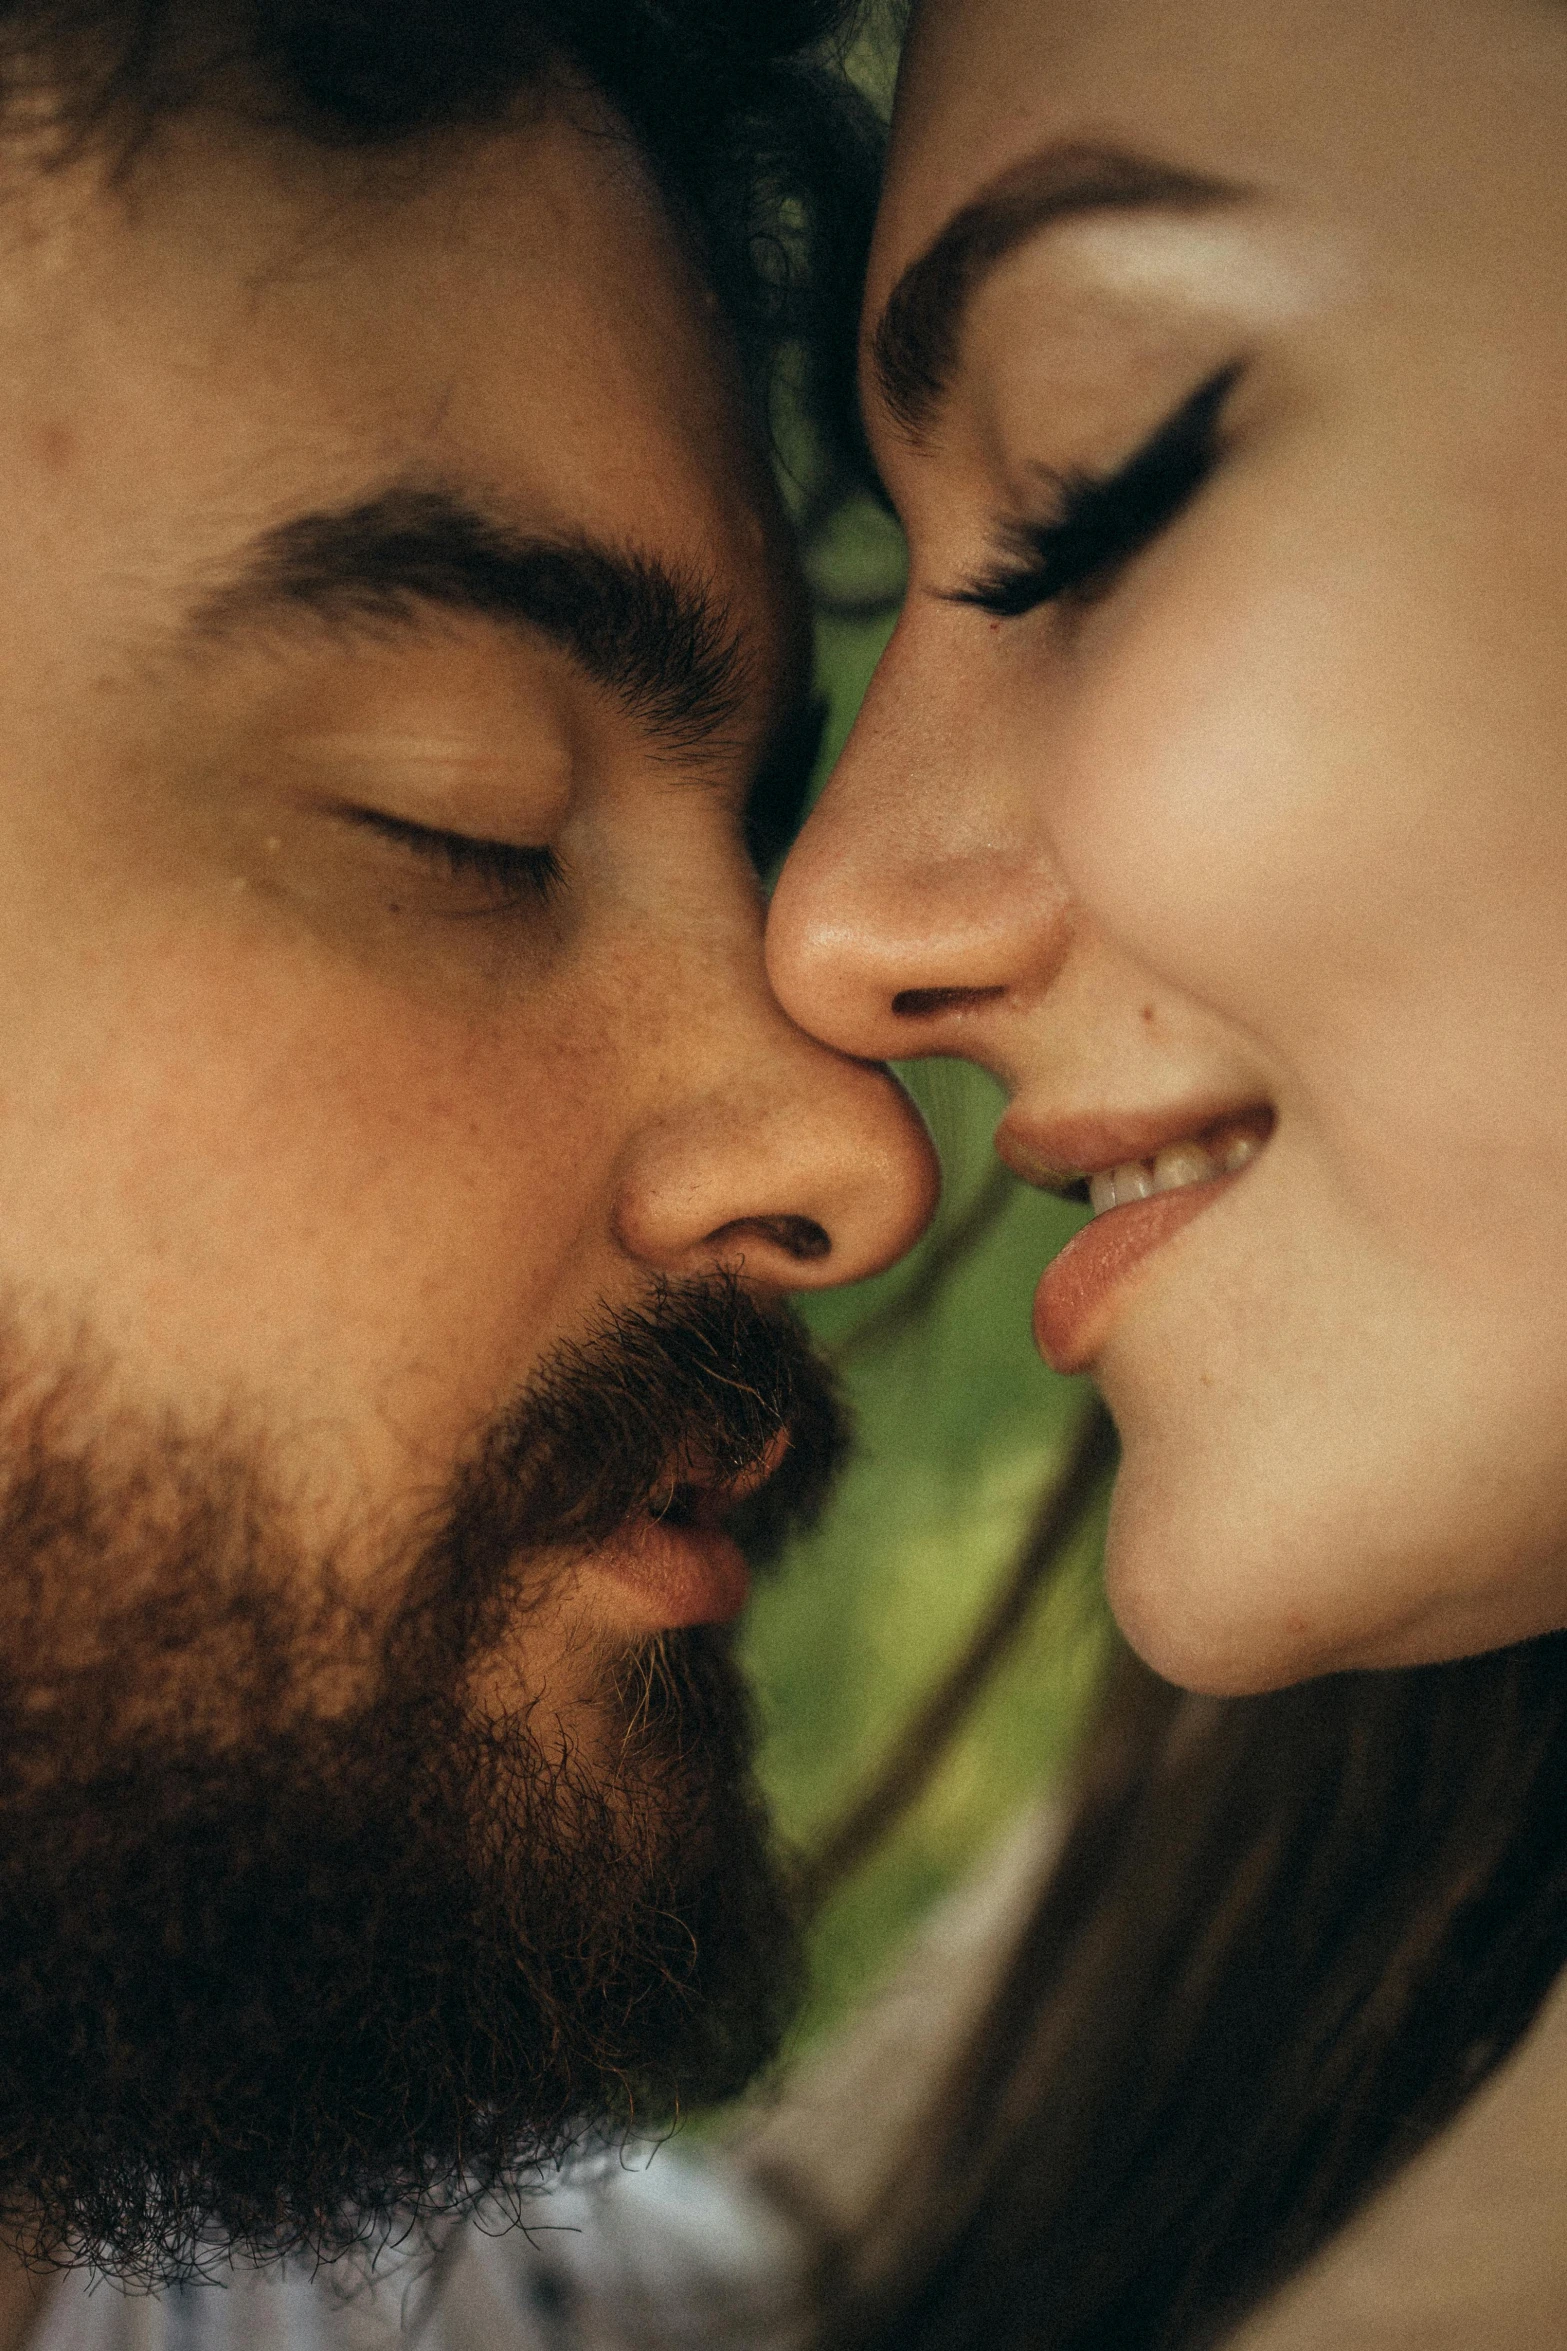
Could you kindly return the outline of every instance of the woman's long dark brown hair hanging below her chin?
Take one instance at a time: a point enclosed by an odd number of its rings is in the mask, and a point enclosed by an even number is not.
[[[888,2184],[855,2351],[1198,2351],[1567,1963],[1567,1636],[1193,1700],[1125,1653],[989,2015]],[[843,2248],[865,2280],[867,2248]]]

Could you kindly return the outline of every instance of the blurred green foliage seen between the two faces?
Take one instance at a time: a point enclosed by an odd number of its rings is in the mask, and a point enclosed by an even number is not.
[[[862,508],[827,560],[836,602],[865,614],[876,592],[895,585],[895,531]],[[825,766],[886,630],[886,611],[839,611],[820,623],[832,701]],[[916,1063],[902,1074],[947,1178],[928,1248],[991,1176],[1001,1098],[959,1063]],[[846,1354],[843,1385],[860,1427],[855,1465],[827,1521],[761,1589],[747,1627],[764,1782],[794,1846],[808,1848],[839,1817],[961,1648],[1083,1408],[1081,1382],[1041,1366],[1029,1328],[1038,1274],[1078,1223],[1081,1211],[1017,1185],[928,1312]],[[822,1345],[843,1349],[865,1317],[919,1279],[919,1262],[921,1253],[876,1281],[815,1300],[808,1319]],[[1050,1782],[1104,1653],[1097,1556],[1085,1545],[1034,1610],[926,1796],[827,1907],[801,2038],[843,2012],[928,1902]]]

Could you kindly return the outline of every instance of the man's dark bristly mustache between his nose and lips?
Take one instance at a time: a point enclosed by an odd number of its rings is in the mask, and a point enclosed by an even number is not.
[[[733,1277],[658,1284],[550,1354],[463,1472],[451,1538],[491,1559],[592,1549],[648,1512],[700,1509],[766,1559],[820,1512],[846,1451],[832,1373],[787,1310]]]

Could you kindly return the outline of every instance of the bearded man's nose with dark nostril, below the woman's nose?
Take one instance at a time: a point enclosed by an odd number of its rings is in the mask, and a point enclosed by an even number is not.
[[[738,1267],[785,1291],[834,1288],[921,1237],[940,1173],[895,1079],[806,1037],[773,1002],[752,938],[745,971],[707,973],[707,1023],[681,1023],[679,1067],[627,1145],[616,1237],[670,1277]]]

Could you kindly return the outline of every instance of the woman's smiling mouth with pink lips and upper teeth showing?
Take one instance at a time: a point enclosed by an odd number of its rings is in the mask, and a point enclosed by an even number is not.
[[[1144,1128],[1151,1124],[1142,1121]],[[1273,1112],[1250,1107],[1219,1119],[1175,1114],[1158,1126],[1163,1138],[1121,1121],[1095,1136],[1092,1126],[1074,1121],[1071,1131],[1024,1140],[1010,1119],[1003,1121],[996,1143],[1008,1166],[1027,1183],[1085,1197],[1092,1211],[1034,1293],[1034,1342],[1052,1371],[1092,1364],[1128,1277],[1245,1173],[1273,1131]],[[1060,1145],[1067,1140],[1078,1173],[1062,1168],[1067,1152]],[[1137,1143],[1144,1145],[1139,1154]]]

